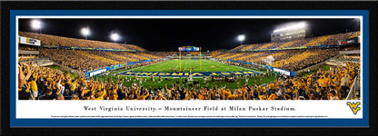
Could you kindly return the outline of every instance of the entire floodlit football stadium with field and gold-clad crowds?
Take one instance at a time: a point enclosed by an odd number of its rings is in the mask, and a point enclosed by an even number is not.
[[[55,34],[53,23],[42,32],[47,20],[19,24],[18,100],[360,99],[360,26],[317,27],[327,33],[313,35],[315,24],[282,21],[267,27],[271,32],[261,37],[268,40],[261,42],[237,34],[230,35],[233,46],[213,36],[224,44],[165,48],[120,42],[126,38],[116,32],[108,41],[90,39],[91,24],[79,36]]]

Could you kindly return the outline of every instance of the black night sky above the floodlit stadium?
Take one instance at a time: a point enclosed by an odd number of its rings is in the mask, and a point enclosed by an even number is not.
[[[19,31],[35,32],[32,19],[20,19]],[[148,51],[177,51],[184,45],[201,46],[203,51],[233,49],[240,45],[236,37],[245,34],[243,44],[270,42],[277,26],[305,22],[313,36],[359,31],[353,19],[40,19],[42,33],[83,38],[81,28],[89,26],[88,40],[113,42],[109,35],[116,32],[117,43],[135,44]],[[310,35],[311,36],[311,35]]]

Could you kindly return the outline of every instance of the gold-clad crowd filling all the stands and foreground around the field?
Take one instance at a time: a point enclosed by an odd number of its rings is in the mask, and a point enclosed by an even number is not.
[[[62,36],[19,32],[20,36],[41,40],[43,46],[19,44],[18,99],[19,100],[343,100],[353,86],[360,71],[356,56],[340,55],[339,51],[359,50],[360,45],[326,46],[339,40],[357,37],[360,32],[323,35],[288,42],[244,44],[229,52],[205,52],[216,62],[233,64],[267,73],[236,76],[246,81],[274,76],[269,83],[237,83],[231,88],[224,85],[207,85],[194,88],[184,83],[166,83],[158,87],[146,87],[142,77],[117,75],[115,80],[85,78],[84,73],[104,67],[124,64],[121,69],[130,70],[153,63],[161,63],[178,52],[149,52],[131,44],[114,44],[99,41],[67,38]],[[72,48],[75,47],[75,48]],[[76,48],[78,47],[78,48]],[[312,47],[312,48],[307,48]],[[86,49],[81,49],[86,48]],[[89,49],[88,49],[89,48]],[[95,50],[101,49],[101,50]],[[112,49],[107,51],[104,49]],[[189,53],[183,53],[186,56]],[[190,53],[198,55],[198,53]],[[356,54],[357,56],[359,54]],[[268,59],[271,58],[271,59]],[[259,65],[273,66],[297,72],[331,58],[343,64],[330,69],[318,69],[300,76],[274,73]],[[45,59],[78,71],[65,73],[59,69],[35,63]],[[209,58],[206,58],[209,59]],[[144,62],[146,60],[150,60]],[[237,62],[233,62],[237,61]],[[142,62],[142,63],[133,63]],[[238,63],[244,62],[244,63]],[[257,63],[257,64],[256,64]],[[147,78],[147,77],[145,77]],[[155,77],[151,80],[154,81]],[[181,79],[181,78],[180,78]],[[206,80],[208,82],[206,82]],[[126,85],[129,81],[140,81]],[[156,79],[154,82],[161,82]],[[252,81],[252,80],[251,80]],[[204,82],[211,83],[208,77]],[[206,84],[205,83],[205,84]],[[224,83],[226,84],[226,83]]]

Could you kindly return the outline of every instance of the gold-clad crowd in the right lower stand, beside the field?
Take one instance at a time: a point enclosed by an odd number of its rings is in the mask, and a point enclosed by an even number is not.
[[[264,52],[228,52],[214,58],[271,65],[289,71],[301,70],[309,65],[323,62],[338,54],[339,48],[302,49]],[[268,60],[267,57],[274,60]]]

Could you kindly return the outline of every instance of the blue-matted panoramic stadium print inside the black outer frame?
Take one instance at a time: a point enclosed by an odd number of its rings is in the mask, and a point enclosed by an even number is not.
[[[368,19],[11,10],[10,126],[366,127]]]

